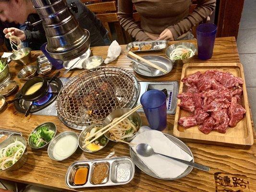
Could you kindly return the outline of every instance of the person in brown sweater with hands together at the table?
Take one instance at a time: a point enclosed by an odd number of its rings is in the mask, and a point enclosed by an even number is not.
[[[133,19],[133,3],[141,17],[140,25]],[[191,27],[206,19],[216,6],[216,0],[197,0],[197,7],[189,14],[191,3],[191,0],[118,0],[118,18],[138,41],[179,40],[191,34]]]

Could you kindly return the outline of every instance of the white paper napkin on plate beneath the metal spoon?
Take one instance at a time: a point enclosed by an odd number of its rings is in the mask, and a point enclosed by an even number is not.
[[[187,161],[191,161],[193,159],[192,156],[188,155],[183,149],[174,144],[171,140],[169,140],[162,132],[156,130],[150,130],[143,128],[141,133],[137,134],[136,137],[131,141],[133,144],[149,144],[155,152],[161,153],[167,156],[173,156],[176,158],[184,159]],[[134,152],[136,152],[136,145],[132,146]],[[152,172],[154,172],[160,178],[176,178],[181,175],[188,166],[165,158],[163,156],[153,155],[153,156],[141,156],[137,154],[137,156],[145,163],[145,165],[150,168]]]

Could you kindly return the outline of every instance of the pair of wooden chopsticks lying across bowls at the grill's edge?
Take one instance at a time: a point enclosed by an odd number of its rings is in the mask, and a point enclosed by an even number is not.
[[[106,125],[105,127],[103,127],[102,129],[98,130],[97,132],[93,133],[92,135],[90,135],[89,137],[85,138],[85,142],[88,141],[89,139],[91,139],[92,137],[94,137],[95,135],[97,135],[99,132],[102,132],[100,135],[98,135],[97,137],[95,137],[94,139],[92,139],[89,143],[84,144],[83,148],[85,148],[88,144],[91,144],[92,142],[94,142],[96,139],[98,139],[99,137],[101,137],[104,133],[110,131],[110,129],[112,129],[113,127],[115,127],[118,123],[122,122],[123,120],[125,120],[127,117],[129,117],[131,114],[133,114],[136,110],[138,110],[139,108],[141,108],[142,105],[138,105],[137,107],[133,108],[132,110],[128,111],[127,113],[123,114],[121,117],[119,117],[116,120],[113,120],[110,124]]]

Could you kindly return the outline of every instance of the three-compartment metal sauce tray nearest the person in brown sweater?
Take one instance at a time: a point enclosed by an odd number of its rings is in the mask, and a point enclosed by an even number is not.
[[[144,45],[151,45],[151,48],[148,50],[142,50]],[[163,48],[158,48],[157,46],[164,45]],[[145,51],[161,51],[168,46],[168,41],[166,40],[158,40],[158,41],[138,41],[138,42],[131,42],[126,46],[126,50],[130,51],[133,47],[139,47],[138,50],[131,50],[132,52],[145,52]]]

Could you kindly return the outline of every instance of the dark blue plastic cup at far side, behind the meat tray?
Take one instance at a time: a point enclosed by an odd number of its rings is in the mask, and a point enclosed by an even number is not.
[[[217,33],[217,25],[200,24],[196,28],[198,58],[200,60],[211,59]]]

